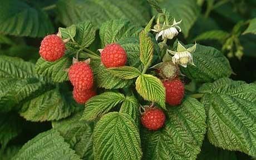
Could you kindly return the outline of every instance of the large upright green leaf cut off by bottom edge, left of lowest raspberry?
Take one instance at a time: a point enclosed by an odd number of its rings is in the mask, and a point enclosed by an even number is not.
[[[141,159],[140,134],[125,113],[112,112],[97,122],[93,133],[95,159]]]

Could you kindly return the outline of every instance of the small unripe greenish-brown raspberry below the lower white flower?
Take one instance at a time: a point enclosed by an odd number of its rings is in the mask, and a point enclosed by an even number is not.
[[[164,62],[159,68],[159,76],[163,79],[174,79],[178,76],[179,67],[173,62]]]

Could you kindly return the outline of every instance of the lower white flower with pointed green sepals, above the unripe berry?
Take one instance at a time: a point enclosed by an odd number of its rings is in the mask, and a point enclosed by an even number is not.
[[[191,54],[195,52],[195,49],[196,49],[196,44],[190,48],[185,48],[184,46],[182,46],[182,44],[180,44],[180,42],[178,42],[177,52],[171,51],[169,49],[167,49],[167,51],[174,55],[172,57],[173,63],[178,63],[183,67],[187,67],[188,63],[195,66],[193,62],[193,56]]]

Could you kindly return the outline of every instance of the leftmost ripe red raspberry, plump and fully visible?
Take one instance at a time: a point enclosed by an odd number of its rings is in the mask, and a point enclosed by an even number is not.
[[[43,38],[40,46],[40,56],[46,61],[56,61],[65,53],[65,43],[55,34],[51,34]]]

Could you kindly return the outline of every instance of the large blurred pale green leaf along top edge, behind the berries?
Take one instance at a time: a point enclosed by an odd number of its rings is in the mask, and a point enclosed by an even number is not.
[[[61,0],[57,3],[58,18],[66,26],[90,19],[99,28],[110,19],[126,18],[140,26],[150,19],[149,7],[133,0]]]

